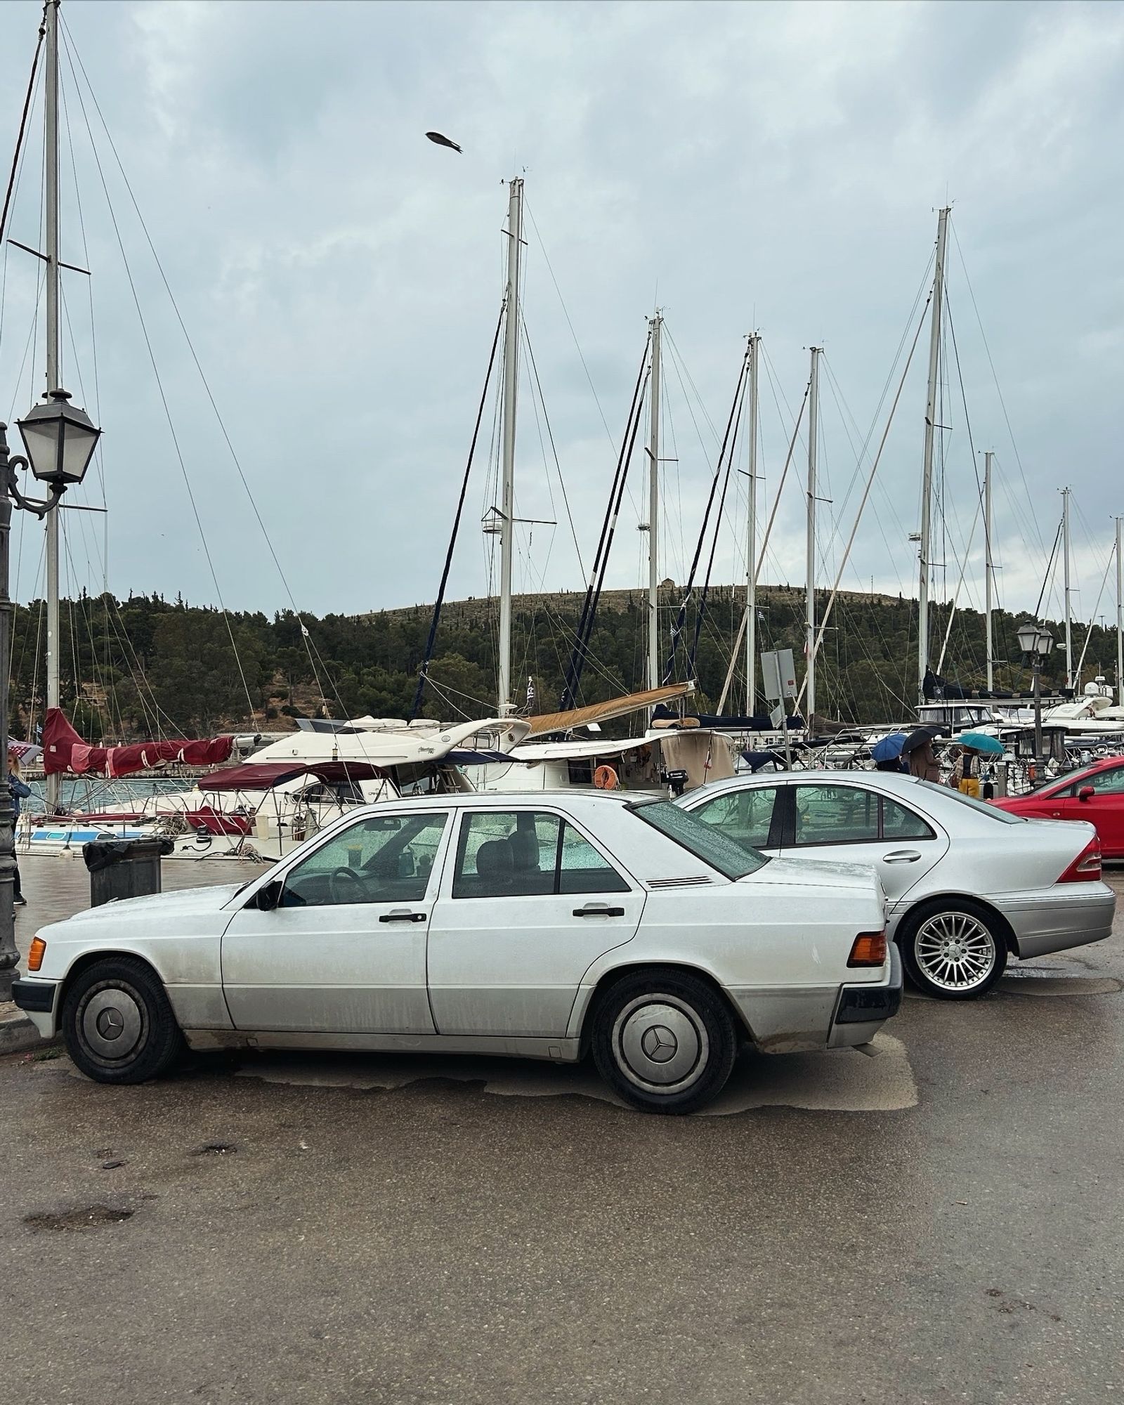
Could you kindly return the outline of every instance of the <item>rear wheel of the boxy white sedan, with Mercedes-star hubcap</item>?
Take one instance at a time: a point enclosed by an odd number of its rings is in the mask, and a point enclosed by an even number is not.
[[[725,1087],[736,1054],[726,1003],[687,971],[653,967],[627,975],[594,1013],[599,1073],[646,1113],[705,1107]]]

